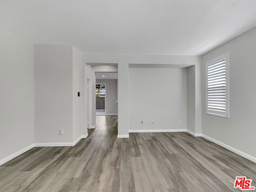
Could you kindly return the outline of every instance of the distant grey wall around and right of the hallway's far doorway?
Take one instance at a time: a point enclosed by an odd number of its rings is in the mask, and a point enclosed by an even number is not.
[[[106,84],[106,115],[117,114],[116,79],[96,79],[96,84]]]

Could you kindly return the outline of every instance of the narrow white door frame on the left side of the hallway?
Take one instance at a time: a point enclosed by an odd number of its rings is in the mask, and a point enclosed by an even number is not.
[[[87,78],[87,128],[92,129],[92,80]]]

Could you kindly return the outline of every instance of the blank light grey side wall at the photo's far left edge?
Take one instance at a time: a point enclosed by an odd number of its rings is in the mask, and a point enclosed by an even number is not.
[[[0,25],[0,160],[34,144],[34,45]]]

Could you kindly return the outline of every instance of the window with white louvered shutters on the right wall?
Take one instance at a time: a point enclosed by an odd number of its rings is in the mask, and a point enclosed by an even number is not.
[[[206,62],[206,114],[229,118],[229,53]]]

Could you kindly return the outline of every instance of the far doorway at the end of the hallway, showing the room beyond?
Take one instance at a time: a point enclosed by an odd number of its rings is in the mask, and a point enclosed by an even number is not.
[[[96,115],[106,115],[106,84],[96,84]]]

